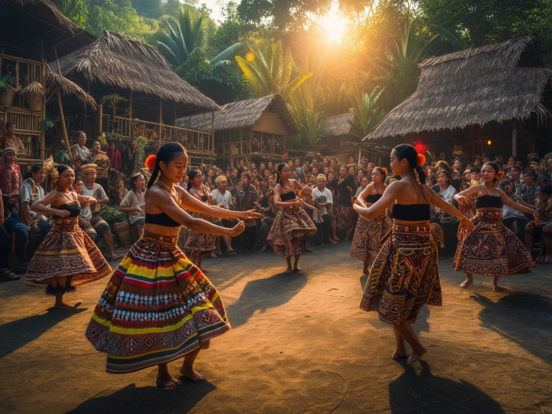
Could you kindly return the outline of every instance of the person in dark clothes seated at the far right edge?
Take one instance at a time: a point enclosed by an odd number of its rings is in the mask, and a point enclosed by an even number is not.
[[[535,226],[535,221],[530,221],[525,227],[525,243],[529,253],[534,255],[533,243],[535,240],[543,239],[545,243],[546,256],[537,254],[536,261],[538,263],[550,263],[552,257],[552,245],[550,245],[550,229],[546,229],[546,238],[544,237],[545,227],[552,226],[552,185],[546,184],[543,188],[540,188],[537,192],[537,201],[535,203],[535,209],[540,215],[540,226]],[[546,261],[548,258],[548,261]]]

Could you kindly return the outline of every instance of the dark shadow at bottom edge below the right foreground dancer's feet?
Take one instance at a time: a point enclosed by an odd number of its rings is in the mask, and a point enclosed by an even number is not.
[[[420,360],[420,363],[422,372],[417,375],[415,369],[406,365],[406,359],[400,360],[405,372],[389,383],[389,403],[393,414],[505,412],[498,402],[475,385],[438,377],[431,373],[427,362]]]

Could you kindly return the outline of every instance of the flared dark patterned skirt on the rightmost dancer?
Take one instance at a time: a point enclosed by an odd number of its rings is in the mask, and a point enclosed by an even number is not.
[[[519,238],[502,224],[502,211],[477,211],[471,231],[458,229],[455,270],[483,276],[505,277],[529,273],[536,267]]]

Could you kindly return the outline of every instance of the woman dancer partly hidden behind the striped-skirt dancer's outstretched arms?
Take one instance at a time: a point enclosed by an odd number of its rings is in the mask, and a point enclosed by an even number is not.
[[[199,169],[193,168],[188,172],[188,178],[188,192],[202,203],[210,205],[213,202],[213,197],[211,197],[209,187],[203,185],[203,173],[201,173]],[[194,217],[194,219],[207,220],[211,223],[219,221],[216,217],[204,213],[192,213],[192,217]],[[201,267],[205,252],[214,252],[219,245],[219,237],[210,233],[193,231],[188,227],[184,227],[183,238],[185,240],[182,246],[183,250],[191,251],[192,256],[190,256],[190,260],[192,263],[199,267],[202,272],[206,272],[206,270]],[[195,261],[196,258],[197,262]]]

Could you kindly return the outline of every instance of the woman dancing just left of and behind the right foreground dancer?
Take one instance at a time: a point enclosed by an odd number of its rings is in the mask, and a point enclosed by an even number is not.
[[[381,198],[387,188],[384,184],[386,175],[385,168],[375,167],[372,170],[372,182],[357,198],[360,206],[369,207]],[[381,239],[391,230],[391,227],[392,222],[385,210],[372,221],[359,217],[354,230],[350,256],[364,262],[363,274],[368,274],[368,267],[372,266],[381,249]]]

